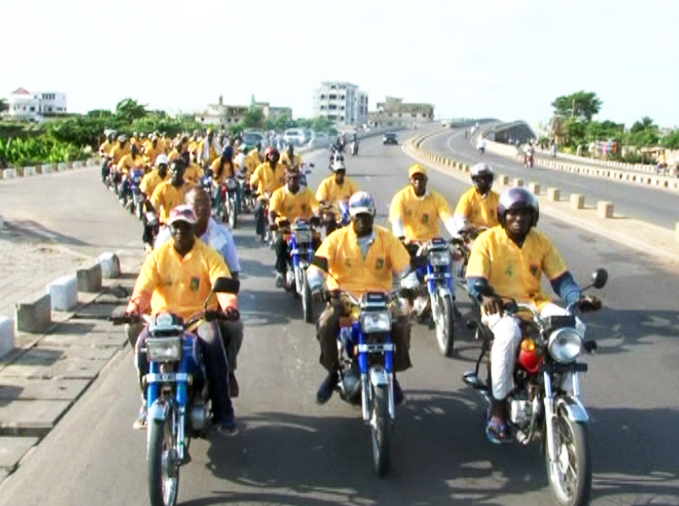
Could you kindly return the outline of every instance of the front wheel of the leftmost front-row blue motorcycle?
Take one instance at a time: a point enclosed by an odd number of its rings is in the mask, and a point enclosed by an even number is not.
[[[151,506],[175,506],[179,492],[177,445],[172,436],[172,416],[149,420],[147,465]]]

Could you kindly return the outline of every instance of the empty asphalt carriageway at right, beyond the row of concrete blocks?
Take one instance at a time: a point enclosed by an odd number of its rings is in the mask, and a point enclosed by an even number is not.
[[[464,139],[464,128],[430,137],[422,143],[422,146],[460,162],[473,164],[483,160],[492,164],[498,173],[520,177],[526,183],[537,181],[543,188],[558,187],[561,188],[562,194],[585,194],[587,204],[608,200],[614,203],[616,213],[649,221],[665,228],[674,230],[674,224],[679,220],[677,192],[650,189],[612,179],[598,179],[538,166],[528,170],[524,167],[523,160],[518,162],[488,152],[479,154],[475,145],[471,144],[471,139]]]

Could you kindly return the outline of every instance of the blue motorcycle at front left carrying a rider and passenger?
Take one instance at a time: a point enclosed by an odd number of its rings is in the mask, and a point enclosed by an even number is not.
[[[205,301],[204,312],[184,322],[171,313],[145,317],[150,336],[146,342],[149,374],[147,388],[147,472],[151,506],[175,506],[179,469],[187,463],[191,437],[207,438],[210,431],[210,396],[198,336],[189,329],[210,317],[207,304],[215,293],[238,293],[239,282],[218,278]],[[218,319],[226,319],[217,313]],[[140,317],[111,317],[113,325],[140,323]]]

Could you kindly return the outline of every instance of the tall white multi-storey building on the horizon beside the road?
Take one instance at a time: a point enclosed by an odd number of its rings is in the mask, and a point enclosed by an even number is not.
[[[355,84],[323,82],[314,92],[314,118],[329,122],[363,125],[368,122],[368,94]]]

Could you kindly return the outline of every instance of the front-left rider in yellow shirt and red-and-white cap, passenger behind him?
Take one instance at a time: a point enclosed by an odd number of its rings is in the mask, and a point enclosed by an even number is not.
[[[231,277],[224,259],[202,240],[196,238],[196,214],[190,206],[182,205],[172,210],[168,224],[172,240],[147,257],[134,285],[127,307],[127,314],[152,315],[172,312],[187,321],[202,312],[203,304],[218,278]],[[219,307],[227,316],[238,319],[238,299],[235,295],[218,293]],[[216,308],[213,303],[209,309]],[[210,399],[213,404],[218,430],[224,435],[238,431],[234,407],[229,394],[229,366],[216,320],[203,320],[196,335],[204,351],[205,368],[210,382]],[[149,371],[146,354],[143,353],[149,337],[145,329],[137,338],[135,353],[139,384]],[[146,424],[146,403],[134,422],[135,428]]]

